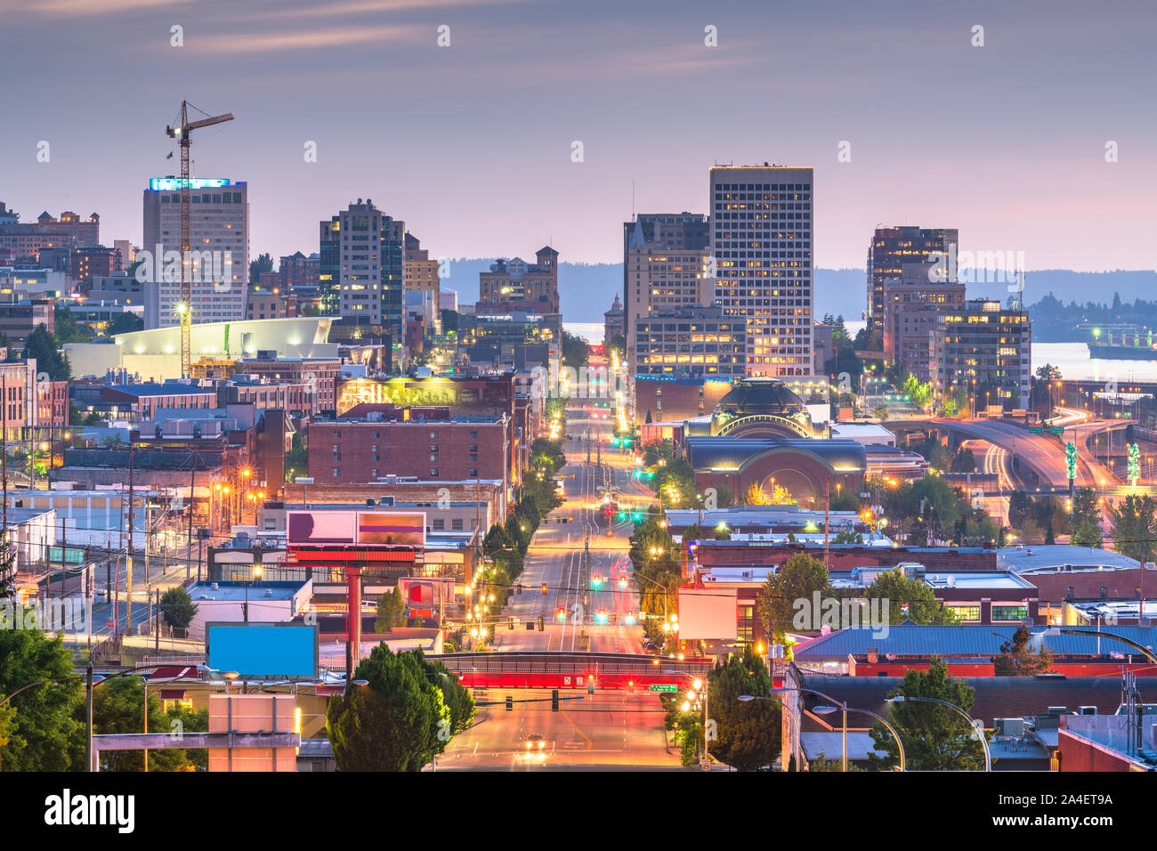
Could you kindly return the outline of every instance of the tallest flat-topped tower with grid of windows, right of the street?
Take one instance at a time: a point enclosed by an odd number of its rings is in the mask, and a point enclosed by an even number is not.
[[[710,170],[715,300],[747,324],[747,374],[811,375],[812,169]]]

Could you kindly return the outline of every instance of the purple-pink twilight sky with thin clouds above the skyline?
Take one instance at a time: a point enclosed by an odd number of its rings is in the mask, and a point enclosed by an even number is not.
[[[140,244],[185,97],[236,116],[193,175],[249,182],[255,255],[316,251],[368,197],[432,256],[617,262],[632,181],[639,212],[706,212],[713,163],[767,160],[816,168],[819,266],[908,223],[1152,269],[1155,24],[1151,0],[0,0],[0,200]]]

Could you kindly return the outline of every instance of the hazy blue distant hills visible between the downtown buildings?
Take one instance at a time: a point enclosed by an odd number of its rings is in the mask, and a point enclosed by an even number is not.
[[[495,258],[460,258],[450,262],[450,278],[444,289],[456,289],[463,303],[478,300],[478,273],[489,270]],[[1024,301],[1039,301],[1049,293],[1064,303],[1089,300],[1111,302],[1113,293],[1123,301],[1151,298],[1157,293],[1157,271],[1114,270],[1110,272],[1074,272],[1068,269],[1045,269],[1025,274]],[[622,293],[621,263],[559,264],[559,296],[567,322],[602,322],[617,294]],[[865,310],[867,273],[863,269],[816,270],[816,316],[842,315],[856,322]],[[1008,298],[1005,284],[973,284],[968,298]]]

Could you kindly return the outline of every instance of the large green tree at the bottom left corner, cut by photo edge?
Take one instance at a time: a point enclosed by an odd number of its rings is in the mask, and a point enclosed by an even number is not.
[[[84,764],[81,677],[60,636],[28,625],[29,615],[0,600],[0,699],[30,683],[0,707],[0,768],[3,771],[69,771]]]

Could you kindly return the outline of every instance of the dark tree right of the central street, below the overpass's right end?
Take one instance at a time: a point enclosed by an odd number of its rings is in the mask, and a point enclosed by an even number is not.
[[[780,704],[775,700],[740,702],[740,695],[766,696],[772,677],[751,647],[732,655],[707,675],[708,706],[715,724],[710,754],[739,771],[769,766],[780,753]],[[708,736],[710,729],[708,729]]]

